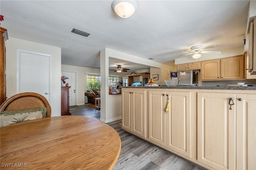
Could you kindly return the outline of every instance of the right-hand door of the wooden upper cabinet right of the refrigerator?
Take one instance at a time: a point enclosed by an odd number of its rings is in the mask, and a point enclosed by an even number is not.
[[[244,78],[244,55],[221,59],[221,79]]]

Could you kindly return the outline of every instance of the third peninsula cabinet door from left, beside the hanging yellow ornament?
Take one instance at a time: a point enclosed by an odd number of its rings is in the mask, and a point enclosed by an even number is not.
[[[148,139],[166,146],[166,94],[148,91]]]

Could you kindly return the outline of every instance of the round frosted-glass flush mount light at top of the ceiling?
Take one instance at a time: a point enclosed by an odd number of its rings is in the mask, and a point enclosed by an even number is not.
[[[114,0],[112,8],[121,18],[129,18],[137,10],[137,2],[135,0]]]

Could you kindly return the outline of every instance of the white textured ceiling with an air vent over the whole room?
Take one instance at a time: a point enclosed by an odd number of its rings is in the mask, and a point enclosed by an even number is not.
[[[1,0],[1,27],[8,29],[9,37],[61,47],[62,64],[91,68],[100,68],[105,47],[168,63],[194,45],[217,45],[209,51],[243,46],[248,0],[137,3],[137,11],[124,19],[112,10],[112,0]],[[73,28],[90,36],[74,34]],[[117,64],[147,68],[110,60],[110,69]]]

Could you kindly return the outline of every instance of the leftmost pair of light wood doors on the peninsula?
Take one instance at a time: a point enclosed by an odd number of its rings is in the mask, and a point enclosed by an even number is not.
[[[122,128],[148,138],[146,90],[122,89]]]

